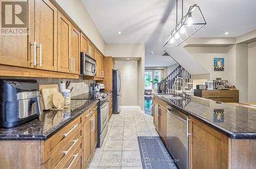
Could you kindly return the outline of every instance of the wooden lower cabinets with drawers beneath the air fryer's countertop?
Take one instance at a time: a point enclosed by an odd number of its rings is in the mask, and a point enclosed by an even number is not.
[[[47,140],[0,140],[1,168],[86,168],[97,132],[95,104]]]

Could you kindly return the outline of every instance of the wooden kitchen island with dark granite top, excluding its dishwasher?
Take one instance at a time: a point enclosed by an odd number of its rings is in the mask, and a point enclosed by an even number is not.
[[[255,109],[195,96],[166,96],[154,95],[154,124],[168,147],[168,140],[172,139],[172,135],[168,134],[168,113],[180,111],[188,117],[188,142],[187,145],[180,144],[179,149],[182,150],[182,146],[187,148],[189,168],[256,166]],[[178,137],[175,139],[176,142],[186,143]]]

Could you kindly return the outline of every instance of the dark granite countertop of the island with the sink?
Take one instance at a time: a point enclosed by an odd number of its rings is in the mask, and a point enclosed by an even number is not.
[[[178,100],[154,96],[230,138],[256,139],[256,109],[189,95]]]

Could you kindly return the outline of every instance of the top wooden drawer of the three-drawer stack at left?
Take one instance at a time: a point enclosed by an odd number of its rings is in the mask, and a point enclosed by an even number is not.
[[[71,137],[81,128],[82,116],[79,116],[74,121],[70,122],[67,126],[62,128],[51,138],[46,140],[44,144],[44,156],[42,161],[45,163],[58,149],[67,144]]]

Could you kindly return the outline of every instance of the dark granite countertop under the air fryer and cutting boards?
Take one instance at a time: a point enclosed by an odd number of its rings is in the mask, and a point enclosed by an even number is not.
[[[1,128],[0,140],[46,140],[76,119],[98,100],[71,100],[65,110],[46,110],[37,119],[13,128]]]

